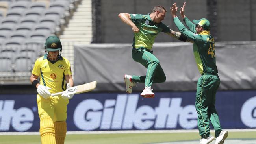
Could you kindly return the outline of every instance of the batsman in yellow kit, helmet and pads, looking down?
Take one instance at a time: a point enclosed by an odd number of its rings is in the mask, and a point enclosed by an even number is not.
[[[64,144],[67,132],[67,104],[73,94],[67,88],[74,85],[69,60],[61,56],[62,45],[57,36],[45,41],[43,57],[35,61],[30,82],[37,88],[37,106],[40,118],[42,144]],[[40,78],[40,82],[37,80]],[[60,96],[51,93],[63,92]]]

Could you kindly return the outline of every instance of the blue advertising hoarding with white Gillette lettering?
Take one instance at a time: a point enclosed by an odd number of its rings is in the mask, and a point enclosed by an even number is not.
[[[197,129],[195,92],[84,93],[67,110],[68,131]],[[256,128],[256,91],[219,91],[224,129]],[[0,131],[39,131],[36,95],[0,95]]]

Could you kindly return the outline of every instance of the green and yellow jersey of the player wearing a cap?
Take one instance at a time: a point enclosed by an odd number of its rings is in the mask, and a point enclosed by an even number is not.
[[[199,72],[217,74],[217,66],[215,60],[214,38],[210,35],[210,31],[202,31],[196,33],[195,24],[193,24],[187,17],[184,18],[189,30],[175,17],[174,23],[179,31],[183,33],[189,40],[193,41],[193,52],[195,61],[197,63]]]

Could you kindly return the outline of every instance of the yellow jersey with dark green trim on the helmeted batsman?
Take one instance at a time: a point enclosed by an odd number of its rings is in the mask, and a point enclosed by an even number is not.
[[[40,77],[41,85],[50,87],[51,93],[66,90],[65,75],[72,75],[69,60],[59,57],[58,61],[51,62],[45,54],[35,61],[32,74]]]

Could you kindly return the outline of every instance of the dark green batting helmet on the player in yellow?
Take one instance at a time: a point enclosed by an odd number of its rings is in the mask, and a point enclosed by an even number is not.
[[[45,47],[47,51],[57,51],[61,50],[62,45],[59,38],[55,35],[52,35],[46,39]]]

